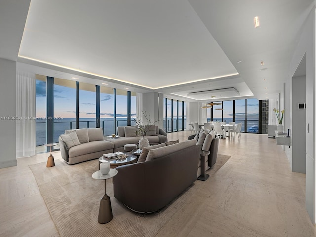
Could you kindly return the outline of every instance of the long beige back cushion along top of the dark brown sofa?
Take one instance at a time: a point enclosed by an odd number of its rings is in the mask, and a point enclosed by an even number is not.
[[[159,157],[163,157],[166,156],[168,154],[177,152],[179,150],[182,150],[184,148],[190,147],[190,146],[195,146],[196,145],[196,141],[195,140],[187,140],[184,142],[179,142],[170,146],[165,146],[165,147],[159,147],[156,149],[151,149],[148,152],[148,155],[146,157],[146,162],[150,161],[152,159],[157,159]]]

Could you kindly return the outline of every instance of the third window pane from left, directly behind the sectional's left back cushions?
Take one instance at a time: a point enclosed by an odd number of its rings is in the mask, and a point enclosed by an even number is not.
[[[79,82],[79,128],[96,126],[95,85]]]

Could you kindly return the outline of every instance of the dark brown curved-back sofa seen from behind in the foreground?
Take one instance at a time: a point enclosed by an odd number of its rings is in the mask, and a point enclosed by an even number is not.
[[[197,179],[200,149],[184,141],[150,150],[145,162],[117,167],[114,197],[136,212],[158,211]]]

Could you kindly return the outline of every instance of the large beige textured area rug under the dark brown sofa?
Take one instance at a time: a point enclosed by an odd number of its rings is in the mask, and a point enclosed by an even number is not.
[[[214,168],[207,173],[214,175],[230,158],[218,154]],[[153,237],[182,208],[203,181],[195,181],[168,206],[152,214],[130,211],[113,197],[112,180],[107,180],[107,194],[111,197],[113,219],[98,223],[100,199],[104,194],[104,181],[91,175],[98,170],[98,160],[68,165],[55,160],[55,166],[46,168],[46,162],[29,166],[50,216],[61,237]],[[211,181],[209,179],[206,182]]]

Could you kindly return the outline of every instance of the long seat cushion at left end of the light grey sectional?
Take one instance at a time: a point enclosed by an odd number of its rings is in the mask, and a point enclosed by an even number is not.
[[[113,143],[108,142],[106,140],[92,141],[92,142],[82,143],[75,147],[71,147],[68,151],[68,154],[69,154],[69,157],[77,157],[77,156],[81,156],[85,154],[106,151],[109,149],[113,149]]]

